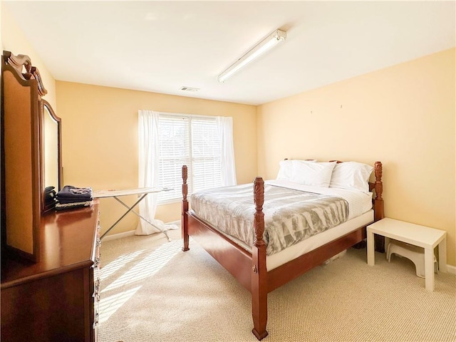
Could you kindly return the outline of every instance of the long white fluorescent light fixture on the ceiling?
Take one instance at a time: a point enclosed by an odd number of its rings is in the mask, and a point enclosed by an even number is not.
[[[252,62],[255,58],[265,53],[273,46],[276,46],[281,41],[284,41],[285,39],[285,31],[276,30],[273,33],[269,34],[269,36],[267,36],[262,41],[257,43],[257,45],[254,46],[254,48],[250,49],[249,52],[247,52],[244,56],[242,56],[236,62],[234,62],[232,66],[229,66],[229,68],[227,68],[223,73],[221,73],[217,77],[217,80],[219,80],[219,82],[221,83],[226,81],[227,78],[233,76],[234,73],[237,73],[237,71],[244,68],[244,66],[247,66],[247,64]]]

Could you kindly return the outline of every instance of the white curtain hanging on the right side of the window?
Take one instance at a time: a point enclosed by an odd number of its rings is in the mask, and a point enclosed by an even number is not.
[[[217,116],[217,128],[221,147],[222,186],[237,185],[234,165],[233,118]]]

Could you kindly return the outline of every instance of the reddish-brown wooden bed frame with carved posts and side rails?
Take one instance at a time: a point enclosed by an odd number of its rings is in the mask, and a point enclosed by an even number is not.
[[[369,189],[375,190],[373,199],[374,221],[384,217],[383,212],[383,183],[382,163],[375,162],[375,182],[369,182]],[[294,260],[283,264],[276,269],[266,271],[266,244],[263,241],[264,213],[264,180],[257,177],[254,180],[254,214],[255,239],[252,253],[232,242],[214,227],[199,219],[195,212],[189,210],[187,201],[187,166],[182,167],[182,238],[183,251],[189,250],[189,236],[191,235],[219,264],[221,264],[234,278],[236,278],[252,294],[252,317],[254,328],[252,333],[261,340],[268,335],[267,295],[279,286],[295,279],[306,271],[321,265],[327,259],[352,247],[366,238],[366,226],[344,235],[332,242],[314,249]],[[383,252],[381,241],[376,242],[377,250]]]

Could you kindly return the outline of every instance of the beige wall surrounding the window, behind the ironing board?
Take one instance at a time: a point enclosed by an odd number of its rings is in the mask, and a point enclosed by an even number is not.
[[[233,118],[237,181],[257,175],[257,108],[212,100],[89,86],[57,81],[62,118],[63,180],[66,185],[102,189],[138,187],[138,110],[221,115]],[[135,197],[125,197],[133,204]],[[115,199],[100,200],[102,231],[125,212]],[[157,207],[165,222],[180,219],[180,203]],[[135,229],[128,214],[110,234]]]

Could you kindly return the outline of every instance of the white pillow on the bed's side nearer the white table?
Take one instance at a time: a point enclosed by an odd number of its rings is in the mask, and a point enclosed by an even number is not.
[[[369,192],[369,177],[373,167],[361,162],[339,162],[334,167],[330,187]]]

